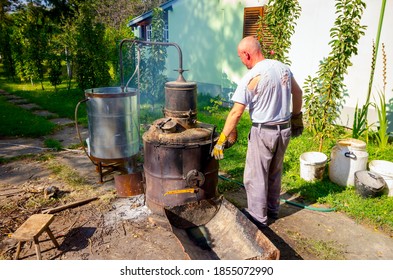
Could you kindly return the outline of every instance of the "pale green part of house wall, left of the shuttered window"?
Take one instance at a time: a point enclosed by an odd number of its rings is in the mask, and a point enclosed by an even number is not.
[[[175,2],[169,11],[169,40],[182,49],[183,68],[189,70],[184,77],[187,81],[210,85],[209,88],[200,86],[199,92],[217,94],[220,87],[234,88],[234,81],[227,77],[236,78],[246,71],[236,49],[243,32],[242,2],[182,0]],[[170,80],[176,78],[172,70],[177,68],[176,49],[168,49]]]

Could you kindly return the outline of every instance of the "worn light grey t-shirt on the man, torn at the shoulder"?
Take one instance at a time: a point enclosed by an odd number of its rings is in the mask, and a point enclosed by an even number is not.
[[[260,76],[254,90],[247,88],[250,81]],[[258,62],[241,79],[232,101],[247,105],[253,123],[280,123],[290,119],[291,77],[287,65],[277,60]]]

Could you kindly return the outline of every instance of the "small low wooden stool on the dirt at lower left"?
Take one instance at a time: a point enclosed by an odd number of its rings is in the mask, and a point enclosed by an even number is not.
[[[55,244],[56,248],[59,247],[56,238],[53,236],[52,231],[49,229],[49,225],[53,222],[55,216],[51,214],[34,214],[28,218],[16,231],[11,235],[12,238],[18,240],[18,247],[16,249],[15,259],[19,258],[19,253],[21,251],[22,245],[26,241],[33,241],[35,246],[35,252],[37,254],[37,259],[41,260],[41,250],[38,238],[40,235],[46,231]]]

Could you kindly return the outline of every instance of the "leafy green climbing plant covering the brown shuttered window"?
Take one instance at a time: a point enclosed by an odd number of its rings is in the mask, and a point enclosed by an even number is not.
[[[257,30],[266,58],[291,63],[288,50],[300,13],[301,7],[297,0],[269,0]]]

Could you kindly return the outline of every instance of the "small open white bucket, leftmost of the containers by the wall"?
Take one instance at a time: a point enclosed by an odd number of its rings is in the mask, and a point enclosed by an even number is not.
[[[306,181],[321,180],[325,171],[327,156],[320,152],[300,155],[300,177]]]

